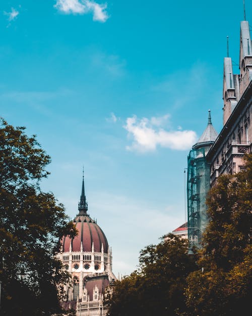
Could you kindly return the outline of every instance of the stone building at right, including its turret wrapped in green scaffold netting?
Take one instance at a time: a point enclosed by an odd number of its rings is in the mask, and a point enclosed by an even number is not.
[[[205,204],[208,190],[219,175],[242,170],[243,155],[252,153],[252,44],[248,21],[240,24],[239,69],[239,74],[233,74],[231,58],[224,58],[223,128],[217,134],[208,123],[188,155],[187,216],[191,247],[201,245],[208,221]]]

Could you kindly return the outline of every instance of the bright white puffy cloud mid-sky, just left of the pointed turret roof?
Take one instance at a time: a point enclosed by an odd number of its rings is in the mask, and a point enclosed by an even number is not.
[[[167,116],[168,118],[169,116]],[[175,150],[188,150],[197,141],[196,132],[193,130],[165,130],[160,127],[162,120],[151,118],[138,119],[136,115],[128,117],[126,125],[123,126],[133,137],[128,150],[154,151],[157,146]],[[154,123],[156,124],[154,124]],[[157,127],[155,127],[157,126]]]

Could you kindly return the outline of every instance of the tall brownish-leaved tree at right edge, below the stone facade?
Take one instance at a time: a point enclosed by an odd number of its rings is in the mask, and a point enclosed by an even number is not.
[[[198,261],[204,272],[187,278],[186,303],[192,315],[247,313],[252,293],[252,155],[245,170],[222,175],[207,199],[209,225]]]

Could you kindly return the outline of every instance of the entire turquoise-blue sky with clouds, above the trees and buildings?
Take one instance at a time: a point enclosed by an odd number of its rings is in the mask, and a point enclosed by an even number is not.
[[[0,114],[37,134],[52,157],[42,188],[71,217],[84,165],[116,275],[184,221],[186,156],[208,109],[222,127],[226,36],[238,63],[242,19],[241,0],[0,3]]]

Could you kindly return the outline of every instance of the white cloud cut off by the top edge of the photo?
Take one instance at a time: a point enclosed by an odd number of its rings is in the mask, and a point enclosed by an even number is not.
[[[66,14],[92,13],[94,21],[106,22],[108,19],[106,3],[98,4],[92,0],[56,0],[54,7]]]

